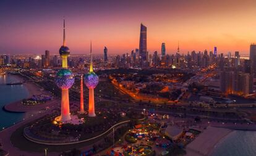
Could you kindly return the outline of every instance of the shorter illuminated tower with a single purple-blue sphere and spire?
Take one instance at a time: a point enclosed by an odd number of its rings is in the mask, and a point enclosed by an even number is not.
[[[94,88],[96,88],[99,83],[99,78],[95,72],[93,72],[93,63],[92,63],[92,42],[91,42],[91,62],[90,62],[90,70],[84,76],[84,82],[87,88],[89,88],[89,108],[88,108],[88,116],[95,117],[95,106],[94,106]]]

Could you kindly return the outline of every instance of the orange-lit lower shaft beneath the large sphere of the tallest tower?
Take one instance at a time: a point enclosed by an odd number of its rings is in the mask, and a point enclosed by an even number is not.
[[[71,120],[69,112],[69,89],[62,89],[61,96],[61,122]]]

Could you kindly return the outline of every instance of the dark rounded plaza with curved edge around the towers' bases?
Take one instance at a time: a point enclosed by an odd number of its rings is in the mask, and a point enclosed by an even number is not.
[[[25,138],[39,144],[61,145],[88,141],[110,131],[114,126],[129,123],[129,117],[118,112],[100,110],[96,117],[87,113],[70,115],[72,123],[59,122],[58,115],[45,116],[23,129]],[[97,122],[95,122],[97,121]]]

